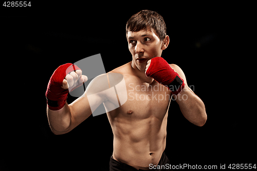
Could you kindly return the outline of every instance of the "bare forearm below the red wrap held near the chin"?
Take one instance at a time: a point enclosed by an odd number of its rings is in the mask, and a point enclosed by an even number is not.
[[[187,85],[174,98],[187,120],[197,126],[205,124],[207,115],[204,102]]]

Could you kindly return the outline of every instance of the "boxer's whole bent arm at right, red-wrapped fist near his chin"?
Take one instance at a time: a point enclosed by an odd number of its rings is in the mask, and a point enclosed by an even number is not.
[[[158,83],[167,86],[172,91],[183,116],[193,124],[203,126],[207,120],[205,105],[188,87],[181,68],[175,64],[168,64],[161,57],[152,58],[147,63],[146,77],[152,77]],[[158,68],[160,66],[161,69]]]

